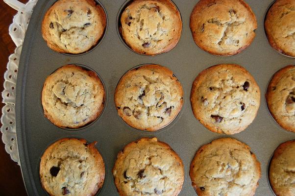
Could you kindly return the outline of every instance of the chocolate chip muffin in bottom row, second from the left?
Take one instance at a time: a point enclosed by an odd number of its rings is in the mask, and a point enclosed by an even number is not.
[[[168,144],[142,138],[119,152],[113,175],[120,196],[177,196],[184,168]]]

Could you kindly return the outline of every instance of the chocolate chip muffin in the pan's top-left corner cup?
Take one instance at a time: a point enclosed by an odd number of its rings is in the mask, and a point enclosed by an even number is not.
[[[94,0],[58,0],[46,12],[42,36],[57,52],[82,53],[102,37],[106,16]]]

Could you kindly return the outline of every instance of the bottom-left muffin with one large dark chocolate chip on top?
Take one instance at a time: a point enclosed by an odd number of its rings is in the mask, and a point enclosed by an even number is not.
[[[102,157],[84,139],[64,138],[41,157],[40,180],[50,196],[95,196],[104,182]]]

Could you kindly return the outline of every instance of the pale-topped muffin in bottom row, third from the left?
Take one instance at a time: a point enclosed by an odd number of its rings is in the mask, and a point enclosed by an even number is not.
[[[220,138],[197,150],[190,176],[198,196],[254,196],[261,169],[250,147]]]

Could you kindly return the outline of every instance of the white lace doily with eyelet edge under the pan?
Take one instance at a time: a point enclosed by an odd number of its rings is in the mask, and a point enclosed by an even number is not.
[[[13,18],[13,23],[9,26],[9,35],[17,48],[14,54],[9,56],[7,71],[4,73],[5,81],[2,100],[5,106],[2,108],[2,127],[0,130],[2,132],[2,141],[5,144],[6,152],[10,154],[12,160],[18,162],[20,165],[15,128],[16,80],[25,31],[37,0],[29,0],[26,4],[18,0],[4,0],[4,2],[18,10],[18,13]]]

